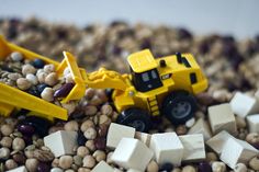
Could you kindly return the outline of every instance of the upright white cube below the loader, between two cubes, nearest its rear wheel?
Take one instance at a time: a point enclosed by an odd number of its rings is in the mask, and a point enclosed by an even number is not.
[[[154,150],[159,164],[171,162],[180,165],[183,157],[183,145],[176,133],[154,134],[149,147]]]

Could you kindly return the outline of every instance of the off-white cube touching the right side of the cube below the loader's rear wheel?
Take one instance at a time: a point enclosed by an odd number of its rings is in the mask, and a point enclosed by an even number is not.
[[[182,161],[200,161],[206,158],[202,134],[179,136],[183,145]]]

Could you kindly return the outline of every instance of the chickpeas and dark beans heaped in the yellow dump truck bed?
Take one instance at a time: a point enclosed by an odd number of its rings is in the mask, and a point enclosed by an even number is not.
[[[75,111],[76,102],[63,104],[58,101],[58,98],[65,98],[74,87],[68,68],[64,70],[61,77],[58,77],[54,65],[45,65],[38,58],[24,59],[18,51],[13,51],[0,61],[0,82],[63,106],[69,114]]]

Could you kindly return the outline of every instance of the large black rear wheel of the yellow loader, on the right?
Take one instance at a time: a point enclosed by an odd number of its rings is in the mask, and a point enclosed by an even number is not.
[[[195,111],[196,102],[187,91],[172,92],[162,103],[162,114],[174,125],[184,124]]]

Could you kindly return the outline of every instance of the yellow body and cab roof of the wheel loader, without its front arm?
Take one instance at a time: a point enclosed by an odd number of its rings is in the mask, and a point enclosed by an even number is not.
[[[156,67],[162,87],[147,92],[139,92],[130,81],[131,84],[125,91],[114,90],[112,99],[117,111],[122,112],[134,106],[146,110],[150,115],[157,116],[160,114],[159,108],[164,99],[170,92],[185,90],[191,94],[198,94],[204,91],[207,88],[207,80],[203,76],[194,57],[191,54],[182,54],[182,56],[188,60],[191,66],[190,68],[185,67],[184,64],[179,64],[176,55],[154,59],[149,50],[143,50],[130,56],[128,60],[133,70],[140,72],[145,71],[143,69],[150,70],[151,68],[148,68],[148,62],[150,62],[153,68]],[[166,67],[159,67],[160,60],[166,61]],[[195,73],[196,83],[191,83],[190,73]],[[131,77],[128,76],[127,78],[130,79]],[[109,83],[106,83],[106,87],[109,87]]]

